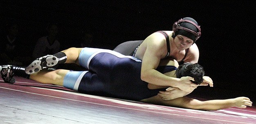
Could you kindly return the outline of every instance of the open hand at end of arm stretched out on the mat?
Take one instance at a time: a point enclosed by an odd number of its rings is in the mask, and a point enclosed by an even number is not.
[[[234,98],[234,106],[238,108],[246,108],[246,106],[252,106],[252,102],[247,97]]]

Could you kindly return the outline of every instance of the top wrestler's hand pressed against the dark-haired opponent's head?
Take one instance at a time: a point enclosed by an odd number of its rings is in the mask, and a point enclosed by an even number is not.
[[[181,77],[180,82],[178,82],[177,87],[185,92],[193,91],[194,89],[196,89],[199,86],[199,84],[194,84],[190,80],[195,81],[194,78],[189,77],[189,76]]]

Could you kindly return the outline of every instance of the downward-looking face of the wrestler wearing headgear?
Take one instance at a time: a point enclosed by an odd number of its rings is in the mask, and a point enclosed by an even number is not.
[[[178,50],[183,51],[185,49],[188,49],[193,44],[193,40],[183,35],[177,35],[174,38],[174,44]]]

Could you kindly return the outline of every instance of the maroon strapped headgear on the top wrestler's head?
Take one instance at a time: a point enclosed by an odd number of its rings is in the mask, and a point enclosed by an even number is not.
[[[185,27],[181,27],[180,24],[182,22],[188,22],[190,24],[193,24],[198,29],[198,31],[195,32],[195,31],[193,31],[191,29],[188,29],[188,28],[185,28]],[[195,40],[198,40],[200,38],[200,36],[201,36],[201,28],[200,28],[200,26],[198,26],[197,24],[195,24],[195,22],[192,22],[191,20],[185,20],[185,19],[178,20],[177,22],[175,22],[173,24],[173,33],[175,33],[175,31],[177,31],[177,29],[181,29],[181,30],[187,31],[189,33],[192,33],[193,35],[195,35]]]

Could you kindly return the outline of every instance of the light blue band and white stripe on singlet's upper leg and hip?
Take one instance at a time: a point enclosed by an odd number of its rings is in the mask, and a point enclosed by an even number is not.
[[[141,62],[141,60],[139,60],[137,58],[134,58],[132,56],[123,55],[121,53],[118,53],[116,51],[112,51],[112,50],[109,50],[109,49],[97,49],[97,48],[85,47],[81,50],[81,52],[79,54],[79,58],[78,58],[79,64],[81,66],[85,67],[86,69],[89,69],[90,61],[98,53],[110,53],[112,55],[117,56],[118,58],[130,58],[130,59],[135,60],[137,62]]]

